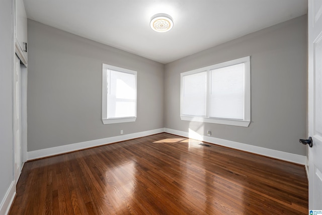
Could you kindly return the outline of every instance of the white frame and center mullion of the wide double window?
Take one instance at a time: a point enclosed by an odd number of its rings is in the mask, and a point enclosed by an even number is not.
[[[251,123],[251,63],[250,56],[241,57],[234,60],[229,60],[222,63],[217,63],[214,65],[186,71],[185,73],[180,74],[180,117],[181,120],[186,121],[198,121],[198,122],[208,122],[208,123],[216,123],[216,124],[225,124],[225,125],[234,125],[234,126],[242,126],[248,127]],[[244,63],[244,119],[227,119],[227,118],[214,118],[209,117],[208,109],[209,109],[209,92],[210,92],[210,73],[211,70],[232,66],[236,64]],[[193,75],[197,73],[207,72],[207,82],[206,82],[206,116],[192,116],[192,115],[184,115],[183,112],[183,93],[184,93],[184,83],[183,78],[188,75]]]

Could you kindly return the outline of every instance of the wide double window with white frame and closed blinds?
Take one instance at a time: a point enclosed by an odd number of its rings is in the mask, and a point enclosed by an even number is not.
[[[248,127],[250,56],[181,74],[182,120]]]

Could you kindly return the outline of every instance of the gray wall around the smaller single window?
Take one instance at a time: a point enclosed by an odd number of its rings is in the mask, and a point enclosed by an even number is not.
[[[28,152],[164,127],[164,64],[28,20]],[[102,63],[137,71],[137,119],[102,122]]]

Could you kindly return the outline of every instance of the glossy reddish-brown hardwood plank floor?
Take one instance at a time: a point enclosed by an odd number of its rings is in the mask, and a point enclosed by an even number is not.
[[[304,166],[160,133],[27,162],[9,214],[307,214]]]

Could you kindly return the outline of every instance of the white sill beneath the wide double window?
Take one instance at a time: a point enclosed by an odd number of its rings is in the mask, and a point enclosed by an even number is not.
[[[234,125],[234,126],[241,126],[241,127],[248,127],[249,124],[251,123],[250,120],[218,119],[218,118],[206,118],[206,117],[197,117],[197,116],[181,116],[181,120]]]

